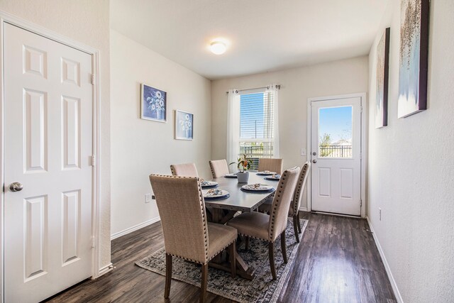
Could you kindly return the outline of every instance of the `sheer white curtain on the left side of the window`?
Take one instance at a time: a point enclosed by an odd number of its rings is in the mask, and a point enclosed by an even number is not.
[[[227,105],[227,163],[238,160],[240,150],[240,95],[236,89],[228,91]],[[228,166],[231,172],[236,172],[235,165]]]

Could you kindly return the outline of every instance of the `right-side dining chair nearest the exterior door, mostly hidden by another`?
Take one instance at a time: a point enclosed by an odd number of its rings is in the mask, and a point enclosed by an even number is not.
[[[299,207],[301,207],[301,199],[303,197],[304,187],[306,187],[306,180],[307,176],[309,176],[309,170],[311,170],[311,162],[307,161],[301,168],[301,172],[299,172],[297,186],[295,187],[292,203],[290,204],[289,208],[289,216],[292,216],[293,218],[293,229],[295,238],[297,238],[298,243],[298,233],[301,233],[301,224],[299,223]],[[260,205],[259,211],[269,214],[271,211],[271,206],[271,203],[265,202],[264,204]]]

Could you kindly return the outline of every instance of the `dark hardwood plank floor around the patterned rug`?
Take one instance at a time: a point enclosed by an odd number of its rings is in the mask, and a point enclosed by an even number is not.
[[[309,219],[278,302],[396,302],[365,219],[301,212]],[[199,302],[199,289],[134,265],[164,245],[160,223],[112,241],[116,269],[48,302]],[[267,255],[264,256],[267,258]],[[231,302],[208,293],[208,302]]]

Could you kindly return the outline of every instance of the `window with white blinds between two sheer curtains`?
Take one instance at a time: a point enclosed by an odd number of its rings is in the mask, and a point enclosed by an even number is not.
[[[273,157],[273,93],[240,95],[239,155],[251,158],[251,170],[258,169],[259,158]]]

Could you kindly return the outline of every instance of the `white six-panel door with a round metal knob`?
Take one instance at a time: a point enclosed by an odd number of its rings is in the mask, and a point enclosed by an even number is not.
[[[6,303],[92,275],[91,75],[92,55],[5,23]]]

